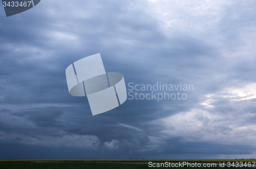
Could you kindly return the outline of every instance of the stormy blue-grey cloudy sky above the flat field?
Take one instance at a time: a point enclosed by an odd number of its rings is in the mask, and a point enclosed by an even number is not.
[[[256,158],[255,8],[42,0],[6,17],[1,7],[0,158]],[[128,96],[92,116],[87,97],[69,94],[65,70],[96,53],[106,72],[123,74],[127,93],[130,82],[194,90]]]

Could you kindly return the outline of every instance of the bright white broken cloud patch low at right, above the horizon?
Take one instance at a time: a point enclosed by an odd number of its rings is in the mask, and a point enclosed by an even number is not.
[[[246,117],[212,114],[206,110],[193,109],[187,112],[157,120],[162,124],[162,137],[181,136],[184,142],[218,143],[222,145],[256,146],[256,125],[244,125]],[[247,114],[247,116],[250,116]],[[251,115],[252,116],[252,115]]]

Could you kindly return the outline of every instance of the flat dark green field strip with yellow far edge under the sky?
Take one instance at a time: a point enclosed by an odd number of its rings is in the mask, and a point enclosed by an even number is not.
[[[255,162],[256,160],[234,160],[234,159],[0,159],[1,169],[37,169],[37,168],[48,168],[48,169],[71,169],[71,168],[169,168],[169,167],[149,167],[148,161],[152,162],[207,162],[217,163],[219,162]],[[172,168],[172,167],[171,167]],[[173,168],[195,168],[195,167],[173,167]],[[199,168],[199,167],[197,167]],[[200,168],[252,168],[248,166],[243,167],[200,167]],[[255,165],[254,167],[255,168]]]

